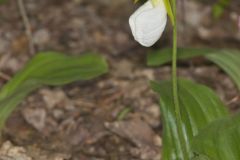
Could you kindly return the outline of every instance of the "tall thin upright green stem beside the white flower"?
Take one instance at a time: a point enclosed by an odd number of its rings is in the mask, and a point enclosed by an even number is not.
[[[187,145],[184,138],[183,130],[182,130],[182,118],[180,112],[180,105],[179,105],[179,97],[178,97],[178,80],[177,80],[177,7],[176,7],[176,0],[172,0],[172,8],[174,14],[174,26],[173,26],[173,53],[172,53],[172,86],[173,86],[173,100],[175,106],[175,115],[176,115],[176,124],[178,135],[181,143],[181,149],[183,151],[183,160],[188,160],[188,153],[187,153]]]

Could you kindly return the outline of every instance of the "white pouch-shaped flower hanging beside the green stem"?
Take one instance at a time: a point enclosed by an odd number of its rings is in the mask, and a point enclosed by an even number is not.
[[[163,0],[156,6],[148,0],[129,18],[130,28],[134,39],[145,47],[156,43],[167,24],[167,11]]]

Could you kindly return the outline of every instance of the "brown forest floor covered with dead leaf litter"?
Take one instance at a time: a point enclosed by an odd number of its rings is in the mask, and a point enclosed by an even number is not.
[[[30,95],[3,130],[0,160],[159,160],[161,113],[149,88],[170,78],[170,66],[146,66],[149,49],[132,38],[131,0],[24,0],[37,52],[77,55],[98,52],[108,74]],[[239,48],[240,3],[215,20],[208,1],[179,4],[179,46]],[[171,46],[171,27],[154,48]],[[29,52],[16,0],[0,6],[0,87],[24,66]],[[213,88],[232,111],[240,94],[232,81],[205,60],[179,63],[179,75]],[[124,112],[127,112],[123,116]]]

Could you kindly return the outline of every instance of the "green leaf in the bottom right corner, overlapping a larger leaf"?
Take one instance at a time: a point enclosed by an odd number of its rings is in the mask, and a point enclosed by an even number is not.
[[[211,123],[193,138],[193,151],[210,160],[240,159],[240,114]]]

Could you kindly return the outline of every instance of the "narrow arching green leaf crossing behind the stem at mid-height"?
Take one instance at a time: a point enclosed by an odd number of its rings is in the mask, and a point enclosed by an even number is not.
[[[197,56],[204,56],[208,60],[220,66],[240,90],[240,51],[238,50],[219,50],[219,49],[178,49],[178,59],[188,59]],[[148,65],[158,66],[171,61],[171,49],[163,49],[148,54]]]

